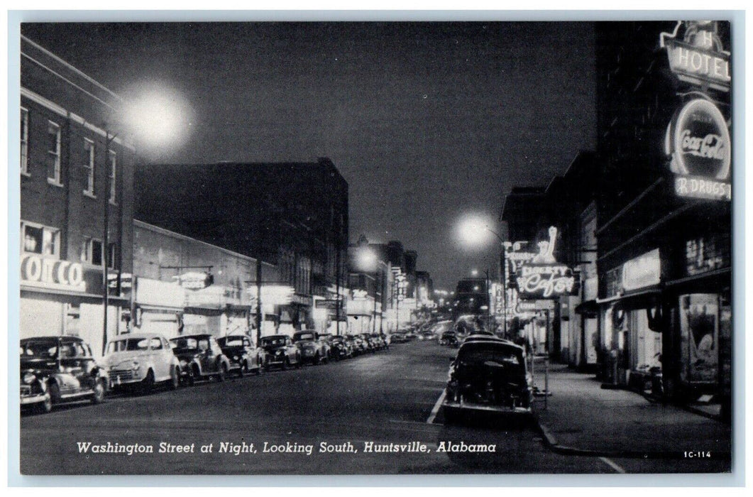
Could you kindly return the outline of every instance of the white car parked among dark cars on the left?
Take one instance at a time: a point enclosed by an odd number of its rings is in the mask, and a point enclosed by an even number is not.
[[[118,335],[107,344],[105,352],[104,361],[113,389],[140,387],[148,392],[156,383],[178,388],[181,364],[169,342],[160,334]]]

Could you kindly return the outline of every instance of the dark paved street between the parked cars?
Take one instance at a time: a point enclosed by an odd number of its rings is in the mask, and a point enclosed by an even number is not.
[[[709,471],[709,464],[563,456],[532,426],[499,428],[475,419],[428,423],[455,349],[394,344],[388,351],[300,370],[205,383],[175,392],[114,395],[21,419],[24,474],[462,474]],[[495,444],[495,453],[437,452],[442,441]],[[142,444],[154,453],[80,453],[92,446]],[[194,444],[193,453],[158,453],[161,443]],[[221,443],[254,444],[256,453],[221,453]],[[312,454],[264,453],[312,445]],[[358,452],[319,453],[320,444]],[[426,453],[367,453],[365,444],[424,444]],[[212,444],[212,453],[200,446]],[[189,447],[190,450],[190,447]]]

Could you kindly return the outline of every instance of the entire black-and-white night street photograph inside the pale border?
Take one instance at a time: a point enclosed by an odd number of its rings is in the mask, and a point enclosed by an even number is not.
[[[20,474],[735,471],[735,28],[22,23]]]

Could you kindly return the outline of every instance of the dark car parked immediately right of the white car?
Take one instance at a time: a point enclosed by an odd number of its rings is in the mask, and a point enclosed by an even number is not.
[[[178,357],[186,383],[214,379],[221,382],[230,373],[230,361],[222,353],[217,339],[210,334],[181,335],[171,338],[172,351]]]

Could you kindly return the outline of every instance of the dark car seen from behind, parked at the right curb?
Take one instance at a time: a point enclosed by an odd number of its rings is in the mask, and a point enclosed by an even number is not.
[[[495,338],[463,343],[450,365],[445,392],[442,405],[449,422],[464,410],[531,414],[533,395],[526,351]]]

